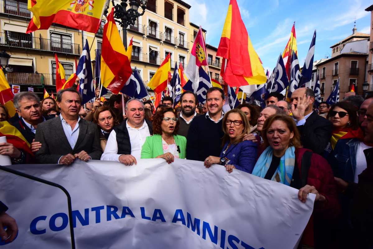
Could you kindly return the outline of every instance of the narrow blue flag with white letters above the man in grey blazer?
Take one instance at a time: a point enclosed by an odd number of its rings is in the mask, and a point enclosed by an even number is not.
[[[78,69],[76,70],[79,80],[79,92],[82,94],[82,105],[95,97],[94,80],[92,73],[92,64],[90,56],[90,47],[87,39],[85,46],[79,59]]]

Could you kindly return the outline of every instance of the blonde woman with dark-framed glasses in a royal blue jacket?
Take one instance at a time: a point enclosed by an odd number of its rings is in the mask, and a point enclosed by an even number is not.
[[[257,158],[257,144],[253,141],[242,141],[245,134],[250,132],[247,116],[240,109],[233,109],[225,113],[223,118],[223,150],[220,157],[209,156],[204,165],[210,168],[212,164],[225,166],[231,173],[239,169],[251,174]]]

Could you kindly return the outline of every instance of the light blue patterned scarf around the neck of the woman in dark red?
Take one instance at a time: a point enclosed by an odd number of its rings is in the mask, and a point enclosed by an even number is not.
[[[272,162],[273,149],[268,146],[267,149],[260,155],[257,163],[253,169],[253,175],[264,178],[267,174],[269,166]],[[280,165],[275,171],[275,174],[272,176],[272,181],[277,181],[279,183],[290,186],[291,179],[293,177],[295,164],[295,147],[291,146],[285,151],[280,159]]]

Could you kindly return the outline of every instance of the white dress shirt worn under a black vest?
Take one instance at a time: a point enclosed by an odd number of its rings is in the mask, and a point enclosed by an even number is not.
[[[129,141],[131,143],[131,155],[136,159],[141,158],[141,149],[145,143],[145,139],[150,136],[148,124],[144,121],[144,124],[138,129],[132,128],[128,121],[126,122],[126,127],[129,134]],[[116,161],[119,162],[119,156],[123,154],[118,154],[118,143],[116,140],[116,132],[112,130],[107,140],[104,153],[101,155],[101,160],[105,161]]]

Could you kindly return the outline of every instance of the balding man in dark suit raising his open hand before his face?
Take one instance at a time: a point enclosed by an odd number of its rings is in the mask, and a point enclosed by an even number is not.
[[[301,135],[304,148],[322,154],[332,136],[332,123],[313,111],[315,94],[301,87],[291,94],[291,112]]]

